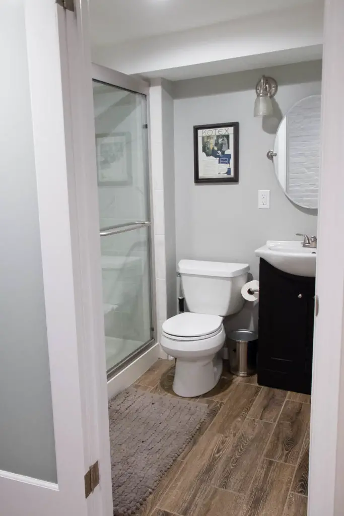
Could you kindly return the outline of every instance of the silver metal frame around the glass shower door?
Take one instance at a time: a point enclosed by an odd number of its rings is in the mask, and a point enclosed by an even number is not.
[[[117,70],[112,70],[111,68],[107,68],[101,65],[96,65],[92,63],[92,79],[97,82],[108,84],[109,86],[113,86],[115,88],[120,88],[126,91],[130,91],[133,93],[140,93],[145,95],[146,98],[146,159],[145,159],[145,167],[147,171],[146,183],[147,183],[147,192],[148,192],[148,210],[147,210],[147,219],[150,222],[150,225],[147,225],[148,230],[148,251],[150,256],[150,297],[151,297],[151,334],[152,338],[142,344],[137,350],[128,354],[123,360],[121,360],[118,364],[110,367],[107,370],[107,380],[111,380],[114,376],[116,376],[122,369],[124,369],[128,364],[133,362],[136,358],[140,357],[142,353],[149,350],[153,345],[157,342],[157,320],[156,320],[156,292],[155,292],[155,259],[154,259],[154,245],[153,245],[153,188],[152,188],[152,173],[151,173],[151,141],[150,141],[150,132],[149,132],[149,112],[150,112],[150,84],[145,82],[144,80],[133,77],[131,75],[126,75],[122,72],[118,72]],[[142,224],[143,227],[143,224]],[[137,230],[140,229],[138,225]],[[125,231],[135,231],[136,229],[129,228]],[[101,236],[102,238],[102,236]]]

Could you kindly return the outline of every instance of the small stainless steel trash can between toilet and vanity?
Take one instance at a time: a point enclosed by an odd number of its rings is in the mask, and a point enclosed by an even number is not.
[[[257,370],[258,336],[254,331],[236,330],[228,335],[230,371],[236,376],[251,376]]]

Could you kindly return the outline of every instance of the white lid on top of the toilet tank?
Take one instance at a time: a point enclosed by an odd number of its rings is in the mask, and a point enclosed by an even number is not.
[[[194,276],[218,276],[219,278],[234,278],[248,272],[247,263],[201,262],[199,260],[181,260],[178,271],[181,274]]]

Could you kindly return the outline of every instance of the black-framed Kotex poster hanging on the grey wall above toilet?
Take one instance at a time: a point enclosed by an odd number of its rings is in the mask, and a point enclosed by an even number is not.
[[[239,122],[193,126],[194,182],[238,183]]]

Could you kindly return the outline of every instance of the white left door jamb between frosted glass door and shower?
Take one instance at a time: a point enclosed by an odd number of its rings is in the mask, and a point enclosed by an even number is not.
[[[69,157],[69,195],[74,248],[74,281],[78,307],[78,349],[81,402],[87,462],[99,461],[100,484],[87,498],[89,516],[112,516],[111,454],[106,380],[105,330],[101,284],[99,205],[92,91],[92,67],[88,0],[74,0],[74,12],[62,11],[65,19],[67,66],[62,69],[62,89],[69,100],[65,117],[72,128]],[[82,38],[78,35],[82,35]]]

